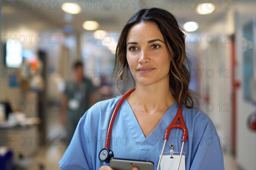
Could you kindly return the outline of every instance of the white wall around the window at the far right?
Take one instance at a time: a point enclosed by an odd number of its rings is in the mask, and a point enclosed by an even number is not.
[[[249,8],[249,7],[248,7]],[[255,8],[254,8],[255,9]],[[255,113],[255,104],[244,100],[244,84],[243,84],[243,40],[242,40],[242,27],[249,21],[253,20],[255,24],[255,12],[250,14],[248,12],[241,12],[237,10],[236,14],[236,55],[237,57],[237,77],[236,79],[241,82],[241,88],[238,89],[237,101],[237,161],[244,169],[256,169],[256,134],[247,127],[247,119],[251,113]],[[255,27],[254,27],[255,29]],[[255,31],[254,31],[255,35]],[[254,36],[255,42],[255,36]],[[255,48],[255,46],[254,46]],[[256,62],[254,51],[254,63]],[[256,87],[254,87],[256,88]]]

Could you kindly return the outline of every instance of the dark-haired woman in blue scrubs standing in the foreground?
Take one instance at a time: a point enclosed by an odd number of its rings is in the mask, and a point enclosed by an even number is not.
[[[126,71],[135,79],[135,91],[120,106],[111,131],[114,157],[154,162],[157,169],[165,130],[179,105],[188,130],[184,146],[186,169],[224,169],[218,134],[209,117],[193,107],[186,67],[185,35],[175,17],[160,8],[142,9],[124,26],[116,50],[113,75],[120,90]],[[99,161],[108,123],[122,96],[96,103],[81,118],[61,169],[110,169]],[[172,129],[167,145],[180,151],[183,131]],[[168,152],[170,147],[165,147]]]

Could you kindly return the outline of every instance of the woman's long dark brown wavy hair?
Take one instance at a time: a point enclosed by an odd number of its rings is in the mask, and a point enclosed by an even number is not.
[[[164,42],[171,57],[169,71],[169,86],[174,93],[179,104],[186,105],[188,108],[194,106],[195,91],[189,89],[190,73],[189,60],[186,56],[185,34],[181,31],[175,17],[162,8],[142,9],[135,13],[125,24],[120,34],[117,47],[116,59],[112,77],[116,80],[116,87],[121,94],[121,88],[125,80],[129,79],[131,71],[126,59],[126,39],[128,31],[137,23],[153,22],[156,23],[163,35]],[[171,49],[169,48],[171,47]],[[172,51],[172,52],[171,52]],[[130,76],[131,77],[131,76]],[[132,77],[135,85],[135,80]]]

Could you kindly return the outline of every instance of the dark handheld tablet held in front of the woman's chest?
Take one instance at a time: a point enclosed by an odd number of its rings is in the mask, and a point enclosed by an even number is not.
[[[112,158],[110,160],[110,167],[116,170],[131,170],[133,166],[138,167],[139,170],[154,170],[152,161],[121,158]]]

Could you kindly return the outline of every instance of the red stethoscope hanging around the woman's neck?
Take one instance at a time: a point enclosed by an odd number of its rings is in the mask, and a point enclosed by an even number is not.
[[[114,112],[111,116],[111,119],[110,119],[110,122],[108,124],[108,132],[107,132],[107,137],[106,137],[106,143],[105,143],[105,148],[103,148],[102,150],[99,151],[99,160],[102,161],[102,162],[109,162],[110,159],[114,156],[114,153],[112,150],[109,149],[109,144],[110,144],[110,136],[111,136],[111,130],[112,130],[112,127],[113,127],[113,122],[115,120],[115,117],[116,117],[116,113],[119,109],[119,107],[121,106],[122,102],[125,100],[125,98],[127,96],[129,96],[133,91],[135,90],[132,89],[128,92],[126,92],[122,98],[119,100],[119,102],[117,103],[116,105],[116,108],[114,109]],[[180,123],[177,123],[178,119],[180,119]],[[175,118],[173,119],[172,123],[166,128],[166,132],[165,132],[165,136],[164,136],[164,144],[163,144],[163,150],[162,150],[162,153],[161,153],[161,156],[160,156],[160,159],[159,159],[159,162],[158,162],[158,166],[157,166],[157,169],[159,169],[160,167],[160,162],[161,162],[161,159],[163,157],[163,151],[164,151],[164,148],[165,148],[165,145],[166,145],[166,141],[168,140],[168,137],[169,137],[169,133],[170,131],[173,129],[173,128],[180,128],[181,130],[183,130],[183,139],[182,139],[182,147],[181,147],[181,151],[180,151],[180,158],[179,158],[179,162],[178,162],[178,166],[177,166],[177,170],[179,169],[180,167],[180,161],[181,161],[181,156],[182,156],[182,153],[183,153],[183,148],[184,148],[184,144],[186,142],[186,138],[188,136],[188,131],[187,131],[187,128],[186,128],[186,124],[183,120],[183,116],[182,116],[182,108],[181,108],[181,105],[179,105],[179,109],[177,111],[177,114],[175,116]]]

